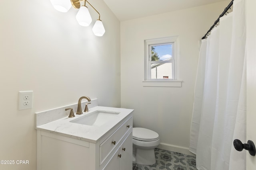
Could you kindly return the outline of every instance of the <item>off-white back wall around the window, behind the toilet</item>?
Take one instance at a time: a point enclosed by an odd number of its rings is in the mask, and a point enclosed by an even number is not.
[[[134,127],[160,135],[160,148],[188,153],[199,42],[229,1],[121,22],[121,107]],[[179,36],[182,87],[143,87],[144,40]]]

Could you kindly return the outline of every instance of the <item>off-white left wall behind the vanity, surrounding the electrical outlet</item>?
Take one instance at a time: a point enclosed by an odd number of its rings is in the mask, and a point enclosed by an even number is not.
[[[5,170],[36,170],[34,113],[75,104],[81,96],[100,106],[120,107],[120,21],[102,0],[90,2],[106,33],[92,33],[76,21],[78,10],[56,11],[50,0],[1,1],[0,160]],[[18,110],[18,91],[34,91],[32,109]]]

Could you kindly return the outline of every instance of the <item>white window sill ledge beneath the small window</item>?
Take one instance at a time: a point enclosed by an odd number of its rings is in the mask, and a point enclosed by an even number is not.
[[[181,87],[182,80],[144,80],[143,87]]]

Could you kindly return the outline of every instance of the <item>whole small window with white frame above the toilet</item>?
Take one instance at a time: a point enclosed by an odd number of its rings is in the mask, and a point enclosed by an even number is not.
[[[177,80],[179,76],[178,36],[158,38],[158,39],[148,39],[148,40],[145,40],[144,44],[145,44],[145,79],[144,79],[145,81],[144,82],[180,82],[180,86],[181,86],[181,81]],[[168,85],[168,86],[172,86],[172,85]]]

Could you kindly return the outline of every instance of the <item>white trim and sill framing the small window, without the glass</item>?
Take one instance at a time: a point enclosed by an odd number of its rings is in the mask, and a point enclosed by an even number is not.
[[[166,80],[166,79],[150,79],[151,76],[149,73],[149,48],[150,45],[156,45],[156,44],[164,44],[164,43],[174,43],[173,51],[174,54],[174,80]],[[144,40],[145,45],[145,57],[144,57],[144,81],[142,81],[142,84],[144,87],[181,87],[182,80],[179,80],[180,78],[180,54],[179,54],[179,37],[178,36],[172,36],[172,37],[164,37],[164,38],[157,38],[157,39],[147,39]]]

